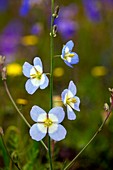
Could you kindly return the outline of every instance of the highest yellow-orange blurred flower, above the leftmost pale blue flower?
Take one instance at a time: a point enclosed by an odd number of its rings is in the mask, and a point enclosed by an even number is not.
[[[38,38],[35,35],[26,35],[21,39],[21,43],[25,46],[35,45],[37,42]]]

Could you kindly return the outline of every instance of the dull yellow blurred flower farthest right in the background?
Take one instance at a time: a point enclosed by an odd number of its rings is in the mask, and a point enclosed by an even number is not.
[[[95,66],[91,70],[91,74],[95,77],[105,76],[108,73],[108,70],[105,66]]]

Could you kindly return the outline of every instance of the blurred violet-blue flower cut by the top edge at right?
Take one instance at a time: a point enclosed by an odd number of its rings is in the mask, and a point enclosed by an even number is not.
[[[100,2],[98,0],[83,0],[84,9],[87,17],[94,22],[102,19],[100,11]]]

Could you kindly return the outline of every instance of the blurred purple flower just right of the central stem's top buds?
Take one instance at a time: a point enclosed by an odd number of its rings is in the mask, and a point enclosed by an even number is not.
[[[77,14],[77,6],[71,4],[68,7],[62,7],[59,11],[59,17],[55,20],[58,26],[58,32],[65,40],[71,39],[78,29],[78,24],[75,22]]]

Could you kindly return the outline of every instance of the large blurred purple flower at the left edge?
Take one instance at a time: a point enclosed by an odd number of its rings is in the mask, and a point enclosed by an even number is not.
[[[11,56],[18,48],[22,36],[22,24],[18,20],[11,21],[0,34],[0,52]]]

